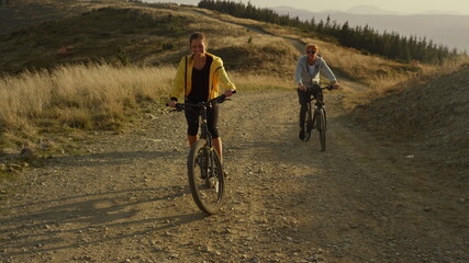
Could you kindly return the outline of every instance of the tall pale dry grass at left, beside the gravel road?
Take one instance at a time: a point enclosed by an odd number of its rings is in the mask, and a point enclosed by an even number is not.
[[[163,68],[110,65],[64,66],[0,79],[2,132],[77,127],[109,129],[125,119],[126,108],[167,96],[175,76]]]

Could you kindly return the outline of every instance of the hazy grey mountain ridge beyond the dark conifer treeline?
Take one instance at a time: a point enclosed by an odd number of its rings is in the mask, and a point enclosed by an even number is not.
[[[331,16],[332,21],[349,25],[369,25],[379,32],[397,32],[403,36],[426,37],[435,44],[443,44],[448,48],[469,52],[469,15],[451,14],[358,14],[348,12],[311,12],[291,7],[271,8],[279,14],[289,14],[300,20],[315,19],[316,22],[325,21]],[[357,11],[357,10],[356,10]]]

